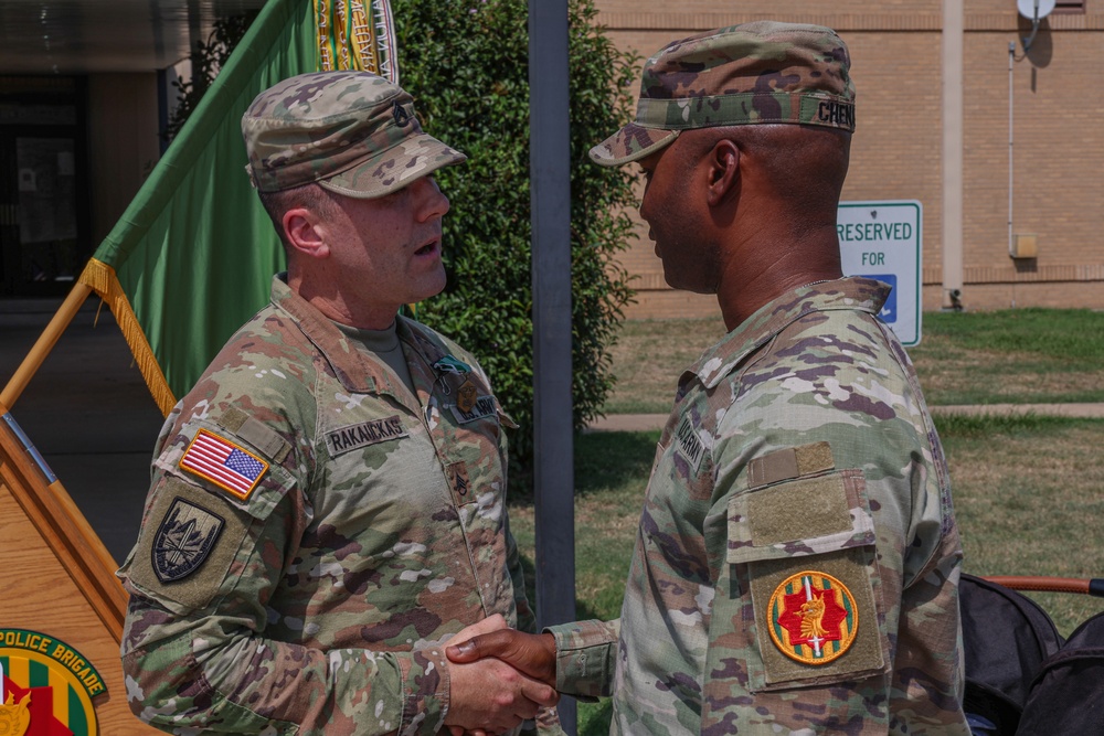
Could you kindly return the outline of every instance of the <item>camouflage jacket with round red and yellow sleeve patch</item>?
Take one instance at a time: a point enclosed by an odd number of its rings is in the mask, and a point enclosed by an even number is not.
[[[553,629],[613,733],[968,734],[951,487],[887,295],[792,291],[683,374],[618,644]]]

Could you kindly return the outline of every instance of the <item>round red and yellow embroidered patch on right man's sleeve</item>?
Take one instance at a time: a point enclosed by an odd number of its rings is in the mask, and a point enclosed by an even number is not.
[[[806,664],[827,664],[854,643],[859,609],[842,583],[831,575],[806,570],[775,588],[767,605],[766,628],[786,657]]]

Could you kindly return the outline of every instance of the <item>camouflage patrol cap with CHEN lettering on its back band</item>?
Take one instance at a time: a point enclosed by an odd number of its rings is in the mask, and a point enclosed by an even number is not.
[[[847,45],[820,25],[755,21],[675,41],[644,66],[636,120],[598,146],[639,160],[692,128],[792,122],[854,130]]]

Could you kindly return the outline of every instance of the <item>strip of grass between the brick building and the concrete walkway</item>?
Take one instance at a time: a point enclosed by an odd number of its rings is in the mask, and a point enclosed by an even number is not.
[[[626,322],[606,413],[666,414],[681,372],[723,334],[720,317]],[[933,406],[1104,402],[1102,311],[924,312],[909,354]]]

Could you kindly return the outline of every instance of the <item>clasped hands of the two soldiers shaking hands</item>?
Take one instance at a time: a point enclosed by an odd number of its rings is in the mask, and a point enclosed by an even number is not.
[[[445,725],[452,736],[501,734],[560,700],[552,634],[516,631],[496,614],[449,642]]]

